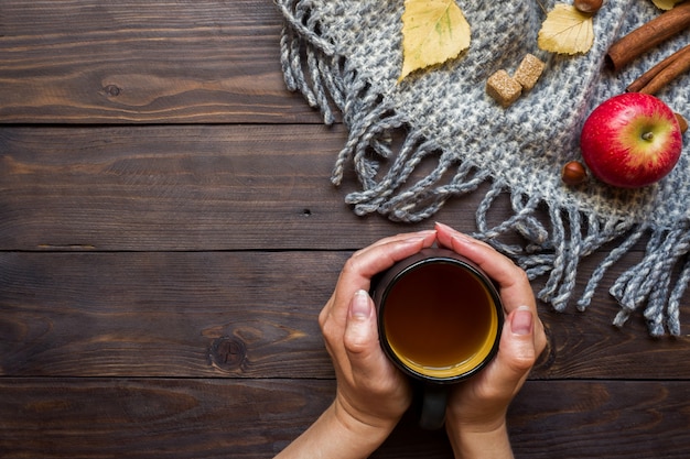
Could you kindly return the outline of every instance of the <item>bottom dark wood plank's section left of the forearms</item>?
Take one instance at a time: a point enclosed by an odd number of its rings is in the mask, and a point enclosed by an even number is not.
[[[328,404],[324,381],[0,380],[0,457],[269,458]]]

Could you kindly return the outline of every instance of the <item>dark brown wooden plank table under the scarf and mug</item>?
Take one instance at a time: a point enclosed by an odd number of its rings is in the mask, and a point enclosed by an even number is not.
[[[285,90],[280,28],[259,0],[0,2],[1,458],[268,458],[328,405],[343,263],[432,223],[344,204],[345,129]],[[473,231],[478,199],[434,218]],[[613,327],[624,267],[584,314],[540,305],[517,457],[690,457],[688,326]],[[405,418],[375,457],[451,452]]]

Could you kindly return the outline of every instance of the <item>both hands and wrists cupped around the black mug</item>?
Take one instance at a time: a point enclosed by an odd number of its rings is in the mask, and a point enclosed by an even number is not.
[[[445,428],[457,458],[510,458],[506,412],[546,347],[535,295],[522,270],[488,244],[436,223],[357,251],[346,262],[319,323],[337,378],[333,404],[280,455],[365,458],[392,431],[412,401],[407,376],[384,353],[371,277],[423,248],[451,249],[482,267],[499,287],[505,324],[499,351],[475,376],[453,387]]]

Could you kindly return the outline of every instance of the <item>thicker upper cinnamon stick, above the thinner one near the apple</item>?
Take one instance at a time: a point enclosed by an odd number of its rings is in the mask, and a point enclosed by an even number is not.
[[[643,53],[686,31],[689,26],[690,1],[684,1],[611,45],[606,54],[606,64],[612,69],[619,70]]]

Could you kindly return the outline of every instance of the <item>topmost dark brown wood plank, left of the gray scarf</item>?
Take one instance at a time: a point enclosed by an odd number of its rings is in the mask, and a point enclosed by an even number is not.
[[[270,1],[3,0],[0,122],[320,122]]]

